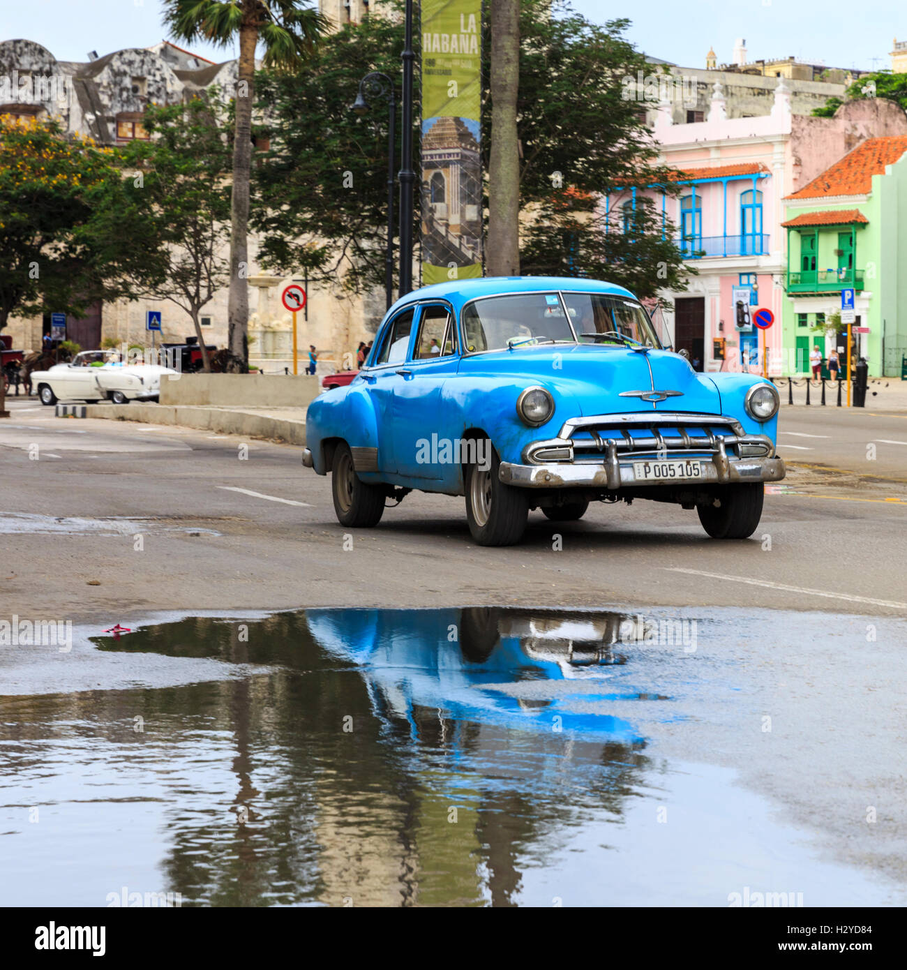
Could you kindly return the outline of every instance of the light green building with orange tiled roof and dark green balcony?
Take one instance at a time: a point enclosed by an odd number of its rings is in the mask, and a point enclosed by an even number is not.
[[[847,327],[817,334],[856,290],[855,350],[870,376],[899,376],[907,355],[907,137],[872,138],[785,199],[788,269],[782,319],[784,372],[809,372],[847,343]],[[844,354],[840,354],[843,361]]]

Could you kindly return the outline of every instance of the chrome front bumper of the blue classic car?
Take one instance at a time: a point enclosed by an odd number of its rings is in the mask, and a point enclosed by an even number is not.
[[[672,459],[668,458],[667,461]],[[780,458],[741,458],[730,460],[724,453],[698,461],[702,474],[698,478],[636,479],[632,461],[616,459],[601,465],[586,462],[569,465],[551,462],[547,465],[515,465],[502,462],[499,477],[507,485],[519,488],[599,488],[615,492],[628,486],[648,485],[727,485],[731,482],[778,482],[786,469]],[[652,462],[639,457],[636,461]]]

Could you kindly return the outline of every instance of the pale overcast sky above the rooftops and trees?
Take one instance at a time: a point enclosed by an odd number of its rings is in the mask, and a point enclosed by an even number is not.
[[[162,6],[161,0],[2,0],[0,40],[25,37],[60,60],[78,61],[89,50],[103,56],[146,48],[165,38]],[[598,21],[630,16],[630,38],[638,48],[685,67],[704,67],[709,47],[719,62],[729,61],[734,40],[743,37],[750,60],[794,54],[832,67],[872,70],[891,66],[895,36],[907,40],[904,0],[573,0],[573,6]],[[217,61],[235,56],[204,44],[192,49]]]

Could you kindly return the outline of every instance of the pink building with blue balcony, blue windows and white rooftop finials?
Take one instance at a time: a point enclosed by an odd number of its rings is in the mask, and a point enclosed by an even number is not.
[[[771,112],[761,116],[729,118],[720,82],[703,121],[672,123],[669,104],[660,105],[653,137],[682,191],[668,198],[654,186],[647,194],[698,274],[686,291],[662,294],[674,306],[664,320],[674,346],[689,351],[699,370],[761,368],[750,314],[767,307],[776,321],[765,332],[768,372],[795,372],[781,327],[788,299],[782,200],[867,138],[903,134],[907,115],[888,101],[850,102],[832,118],[794,114],[783,78]],[[612,229],[632,226],[632,190],[611,193],[605,205]]]

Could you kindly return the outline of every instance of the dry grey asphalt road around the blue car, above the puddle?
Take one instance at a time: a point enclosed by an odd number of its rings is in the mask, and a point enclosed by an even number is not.
[[[4,613],[112,624],[159,609],[312,605],[907,612],[903,413],[783,411],[789,477],[745,542],[708,538],[695,511],[636,501],[594,506],[579,523],[534,512],[522,545],[486,549],[462,498],[412,494],[378,528],[347,533],[329,480],[302,468],[298,447],[10,406]]]

